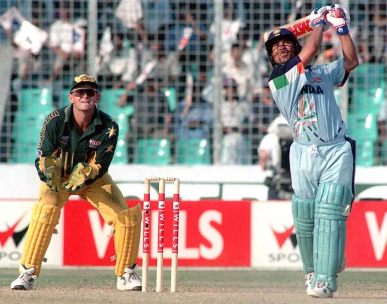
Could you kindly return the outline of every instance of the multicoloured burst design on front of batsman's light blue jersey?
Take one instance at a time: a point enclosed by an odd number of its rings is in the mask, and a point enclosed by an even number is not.
[[[316,105],[313,102],[313,99],[310,101],[307,100],[305,95],[301,95],[300,100],[298,101],[298,111],[296,113],[296,119],[293,125],[293,136],[294,138],[299,137],[302,133],[305,133],[308,141],[311,141],[308,131],[310,131],[314,136],[318,137],[316,127],[317,122],[317,111]]]

